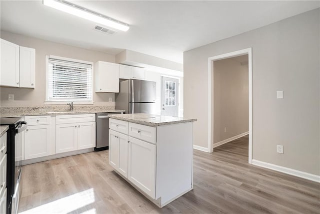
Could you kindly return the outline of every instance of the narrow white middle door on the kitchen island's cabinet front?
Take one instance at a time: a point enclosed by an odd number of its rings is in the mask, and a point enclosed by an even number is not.
[[[116,134],[118,138],[119,148],[119,168],[118,172],[124,177],[128,177],[128,136],[125,134]]]

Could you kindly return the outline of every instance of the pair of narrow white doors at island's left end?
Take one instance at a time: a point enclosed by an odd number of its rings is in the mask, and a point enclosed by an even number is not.
[[[128,136],[113,130],[109,131],[109,164],[128,177]]]

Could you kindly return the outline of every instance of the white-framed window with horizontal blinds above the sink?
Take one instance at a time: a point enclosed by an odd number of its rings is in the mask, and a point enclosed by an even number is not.
[[[46,101],[92,102],[91,62],[46,56]]]

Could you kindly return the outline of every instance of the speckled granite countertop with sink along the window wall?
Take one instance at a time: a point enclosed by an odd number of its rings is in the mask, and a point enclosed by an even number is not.
[[[74,111],[65,107],[5,107],[1,109],[0,117],[21,117],[34,115],[65,115],[65,114],[95,114],[95,113],[124,112],[104,106],[75,107]]]

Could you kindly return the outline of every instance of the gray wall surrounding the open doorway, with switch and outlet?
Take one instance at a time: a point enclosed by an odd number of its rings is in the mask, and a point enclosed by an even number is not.
[[[320,175],[319,18],[316,9],[184,52],[184,116],[198,119],[195,145],[208,142],[208,57],[252,47],[253,159]]]

